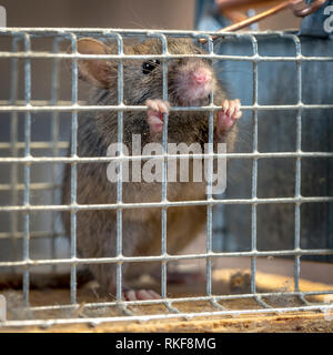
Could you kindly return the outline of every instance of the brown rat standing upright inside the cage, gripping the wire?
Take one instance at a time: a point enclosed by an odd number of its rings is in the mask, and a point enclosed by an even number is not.
[[[77,43],[81,54],[114,54],[117,45],[82,38]],[[204,54],[190,39],[168,39],[171,54]],[[70,50],[71,51],[71,50]],[[125,54],[161,54],[159,39],[149,39],[139,44],[124,43]],[[92,103],[113,105],[118,103],[118,62],[114,60],[78,60],[79,78],[95,88]],[[123,102],[127,105],[148,105],[148,112],[124,111],[123,143],[132,150],[132,134],[139,134],[144,146],[162,142],[163,114],[169,114],[168,142],[186,144],[209,142],[209,112],[169,111],[172,106],[209,105],[211,92],[213,103],[222,109],[213,116],[214,143],[226,143],[231,151],[236,139],[236,121],[241,118],[239,100],[228,100],[226,90],[216,79],[211,62],[204,58],[183,57],[168,61],[168,102],[162,101],[162,63],[144,59],[123,61]],[[78,155],[105,156],[108,146],[118,142],[117,111],[101,111],[79,119]],[[101,163],[78,165],[77,202],[79,204],[117,203],[117,183],[107,179],[107,166]],[[168,184],[169,201],[206,200],[205,183],[175,182]],[[122,182],[122,202],[160,202],[159,182]],[[71,168],[67,166],[63,180],[63,204],[70,203]],[[70,235],[70,215],[64,213],[67,235]],[[168,212],[168,253],[175,254],[186,246],[203,227],[206,206],[178,207]],[[88,211],[77,216],[77,241],[80,256],[108,257],[117,255],[117,211]],[[161,212],[152,209],[122,210],[122,252],[125,256],[155,255],[161,252]],[[98,280],[101,291],[115,294],[115,264],[89,266]],[[152,273],[151,264],[123,265],[123,274],[138,276]],[[125,300],[159,298],[154,291],[133,291],[124,283]]]

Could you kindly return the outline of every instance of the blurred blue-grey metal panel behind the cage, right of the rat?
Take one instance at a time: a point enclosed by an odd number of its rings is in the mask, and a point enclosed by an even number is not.
[[[331,6],[327,1],[324,7]],[[332,36],[326,33],[324,9],[304,18],[301,30],[256,37],[261,57],[295,58],[293,34],[297,34],[301,52],[306,57],[333,57]],[[333,12],[332,12],[333,14]],[[198,0],[196,29],[214,31],[229,22],[218,14],[213,0]],[[251,36],[221,37],[214,41],[214,52],[228,55],[253,55]],[[240,98],[243,105],[253,104],[254,63],[223,60],[215,63],[219,79],[231,99]],[[297,77],[296,61],[258,62],[258,103],[260,105],[295,105],[295,110],[260,110],[258,112],[258,149],[261,153],[295,152],[301,140],[303,152],[333,152],[333,109],[301,111],[301,136],[297,136],[297,103],[332,104],[332,61],[304,61]],[[300,79],[300,81],[299,81]],[[299,90],[299,84],[301,90]],[[252,152],[253,114],[244,111],[240,121],[236,152]],[[259,159],[256,196],[293,197],[296,194],[296,159]],[[226,199],[251,199],[252,160],[230,160],[228,164]],[[333,159],[302,158],[300,175],[302,196],[333,196]],[[268,203],[256,206],[255,247],[259,251],[293,250],[299,233],[300,247],[333,250],[333,203],[303,203],[300,229],[293,203]],[[251,251],[251,205],[219,205],[213,216],[215,251]],[[302,260],[333,262],[331,255],[302,256]]]

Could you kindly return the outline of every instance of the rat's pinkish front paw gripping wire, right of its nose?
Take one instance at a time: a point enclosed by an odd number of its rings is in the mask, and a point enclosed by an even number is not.
[[[234,123],[242,116],[241,101],[224,100],[222,103],[222,110],[218,112],[216,119],[216,133],[223,135],[230,130]]]

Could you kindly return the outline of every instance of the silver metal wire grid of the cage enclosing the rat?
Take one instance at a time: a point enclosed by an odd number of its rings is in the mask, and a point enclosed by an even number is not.
[[[30,325],[30,324],[57,324],[57,323],[93,323],[99,322],[117,322],[124,320],[155,320],[155,318],[172,318],[183,316],[186,318],[194,316],[209,316],[209,315],[234,315],[234,314],[259,314],[259,313],[274,313],[274,312],[286,312],[286,311],[310,311],[321,310],[326,311],[333,308],[331,305],[323,304],[311,304],[305,297],[310,295],[323,295],[332,294],[333,291],[312,291],[302,292],[299,287],[300,280],[300,257],[303,255],[333,255],[333,250],[321,248],[321,250],[301,250],[300,247],[300,225],[301,225],[301,205],[310,202],[333,202],[333,197],[330,196],[307,196],[301,195],[301,162],[302,158],[333,158],[333,153],[327,152],[303,152],[301,133],[302,133],[302,112],[304,110],[333,109],[333,104],[304,104],[302,102],[302,72],[301,65],[305,61],[333,61],[333,57],[304,57],[301,52],[300,39],[293,33],[285,32],[244,32],[244,33],[228,33],[223,34],[226,37],[233,37],[235,39],[245,38],[252,44],[252,55],[222,55],[214,53],[213,42],[209,32],[189,32],[189,31],[148,31],[148,30],[111,30],[111,29],[0,29],[0,36],[8,36],[12,38],[12,51],[1,51],[0,58],[9,58],[11,60],[11,99],[9,101],[1,101],[0,112],[10,112],[11,114],[11,136],[10,143],[1,143],[1,149],[10,149],[11,156],[0,158],[1,163],[11,164],[23,164],[24,166],[24,183],[18,186],[17,180],[17,168],[12,169],[11,184],[1,184],[0,190],[10,190],[12,193],[12,205],[0,206],[0,212],[9,212],[11,215],[11,231],[8,233],[1,233],[1,239],[23,239],[23,257],[20,261],[14,262],[0,262],[0,267],[23,267],[23,297],[26,306],[31,311],[47,311],[47,310],[72,310],[78,308],[80,305],[77,303],[77,266],[81,264],[99,264],[99,263],[115,263],[117,264],[117,300],[114,302],[103,303],[90,303],[85,304],[84,307],[104,307],[104,306],[117,306],[122,310],[123,316],[115,317],[99,317],[99,318],[72,318],[72,320],[49,320],[49,321],[8,321],[2,325]],[[81,36],[90,37],[104,37],[113,38],[118,42],[118,54],[105,54],[105,55],[93,55],[93,54],[80,54],[77,52],[77,39]],[[142,36],[142,37],[154,37],[161,40],[162,53],[154,55],[125,55],[123,53],[123,37]],[[205,38],[208,39],[208,54],[186,54],[178,55],[170,54],[168,52],[168,37],[191,37],[191,38]],[[275,36],[293,41],[295,45],[294,57],[263,57],[258,51],[258,38]],[[56,37],[53,42],[52,52],[37,52],[31,50],[32,38],[46,38]],[[72,53],[59,52],[59,43],[63,40],[70,40],[72,45]],[[18,50],[18,41],[23,41],[23,51]],[[100,111],[100,110],[115,110],[118,112],[118,143],[119,150],[121,151],[122,143],[122,128],[123,128],[123,112],[131,110],[147,110],[145,106],[139,105],[125,105],[123,103],[123,60],[145,60],[145,59],[159,59],[162,62],[163,70],[163,100],[168,100],[168,67],[167,62],[169,59],[180,57],[205,57],[218,60],[234,60],[234,61],[250,61],[253,64],[253,104],[242,106],[243,111],[251,111],[253,114],[252,124],[252,136],[253,146],[251,153],[229,153],[229,159],[250,159],[252,160],[252,193],[251,199],[233,199],[233,200],[216,200],[213,199],[212,194],[209,194],[205,201],[180,201],[171,202],[167,199],[167,158],[180,158],[179,155],[171,155],[167,153],[168,143],[168,115],[164,114],[164,126],[162,134],[163,142],[163,154],[162,155],[142,155],[142,156],[124,156],[120,154],[117,158],[99,156],[99,158],[79,158],[77,155],[77,131],[78,131],[78,113],[82,111]],[[72,100],[71,102],[59,101],[58,85],[59,85],[59,62],[57,59],[71,59],[72,60]],[[118,104],[117,105],[85,105],[78,101],[78,59],[113,59],[118,60]],[[24,60],[24,101],[20,102],[17,100],[17,60]],[[31,101],[31,60],[32,59],[50,59],[53,62],[52,69],[52,98],[51,102],[48,101]],[[258,64],[260,62],[276,62],[287,61],[296,64],[297,75],[297,103],[289,105],[261,105],[258,102]],[[209,142],[213,141],[213,112],[220,110],[220,106],[213,104],[213,97],[211,95],[211,102],[208,106],[191,108],[191,106],[174,106],[171,111],[209,111],[210,112],[210,128],[209,128]],[[296,110],[296,149],[294,152],[276,152],[276,153],[261,153],[258,151],[258,112],[260,110]],[[24,143],[18,142],[17,129],[18,129],[18,113],[24,113]],[[31,141],[31,113],[36,112],[50,112],[52,120],[52,142],[32,142]],[[65,142],[58,142],[59,135],[59,113],[71,112],[71,155],[59,156],[59,149],[67,146]],[[18,150],[24,148],[24,156],[18,156]],[[31,154],[32,148],[51,148],[53,156],[33,156]],[[223,155],[223,154],[222,154]],[[225,154],[224,154],[225,155]],[[211,159],[221,156],[212,151],[212,145],[208,154],[193,154],[193,158],[209,156]],[[77,165],[89,162],[110,162],[111,160],[118,160],[123,162],[125,160],[141,160],[150,158],[163,159],[163,183],[162,183],[162,196],[161,202],[155,203],[122,203],[122,181],[121,173],[118,180],[117,190],[117,203],[114,204],[89,204],[80,205],[77,203]],[[188,158],[182,155],[181,158]],[[295,158],[295,194],[292,197],[279,197],[279,199],[259,199],[258,197],[258,160],[270,159],[270,158]],[[32,184],[30,182],[30,168],[31,164],[39,163],[67,163],[71,164],[71,204],[70,205],[31,205],[30,193],[33,190],[54,189],[59,185],[53,183],[40,183]],[[121,168],[121,164],[120,164]],[[56,169],[56,168],[54,168]],[[210,172],[212,173],[212,165],[210,165]],[[212,175],[210,174],[209,184]],[[23,204],[18,204],[17,191],[23,190]],[[56,195],[53,196],[54,202]],[[292,203],[295,207],[295,230],[294,230],[294,250],[284,251],[258,251],[256,250],[256,206],[259,204],[268,203]],[[250,252],[231,252],[231,253],[215,253],[212,252],[212,209],[220,204],[248,204],[251,205],[251,251]],[[167,253],[167,210],[171,206],[191,206],[191,205],[206,205],[206,252],[202,254],[186,254],[186,255],[169,255]],[[162,211],[162,233],[161,233],[161,255],[158,256],[132,256],[124,257],[122,255],[122,211],[123,209],[145,209],[145,207],[161,207]],[[103,257],[103,258],[79,258],[77,256],[77,213],[79,211],[87,210],[117,210],[117,257]],[[70,211],[71,212],[71,255],[68,258],[56,260],[51,255],[49,260],[31,260],[30,257],[30,240],[31,237],[39,236],[57,236],[50,232],[37,232],[30,231],[30,214],[38,211]],[[23,232],[17,230],[17,213],[23,213]],[[54,227],[54,220],[52,220]],[[214,295],[212,293],[212,260],[215,257],[232,257],[232,256],[248,256],[251,257],[251,293],[242,295]],[[275,292],[275,293],[258,293],[255,288],[255,271],[256,271],[256,257],[259,256],[294,256],[294,291],[293,292]],[[179,297],[169,298],[167,294],[167,264],[172,261],[182,260],[205,260],[206,261],[206,295],[200,297]],[[160,262],[161,263],[161,296],[162,300],[154,301],[133,301],[123,302],[121,300],[122,290],[122,264],[124,262]],[[52,306],[39,306],[29,307],[29,268],[31,266],[41,265],[70,265],[71,266],[71,302],[67,305],[52,305]],[[263,301],[264,297],[269,296],[296,296],[303,303],[302,306],[294,307],[272,307]],[[260,310],[228,310],[219,301],[238,300],[238,298],[253,298],[262,307]],[[194,312],[183,313],[180,312],[175,303],[180,302],[194,302],[194,301],[209,301],[214,307],[213,312]],[[135,315],[129,311],[129,305],[143,305],[143,304],[163,304],[169,313],[168,314],[151,314],[151,315]]]

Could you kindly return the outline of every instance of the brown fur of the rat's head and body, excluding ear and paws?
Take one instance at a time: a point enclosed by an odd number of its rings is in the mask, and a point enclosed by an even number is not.
[[[105,53],[115,53],[115,47],[100,48]],[[203,53],[190,40],[169,39],[170,53]],[[79,47],[80,51],[80,47]],[[159,40],[152,39],[140,44],[124,45],[128,54],[158,54],[161,53]],[[147,99],[162,99],[162,69],[157,68],[150,74],[142,73],[140,60],[124,60],[124,103],[143,105]],[[176,94],[174,78],[182,65],[210,65],[200,59],[176,59],[168,63],[169,102],[171,105],[182,105],[182,98]],[[80,77],[93,84],[89,71],[95,70],[88,65],[88,61],[79,61]],[[162,65],[161,65],[162,67]],[[118,63],[100,61],[100,89],[94,90],[92,102],[95,104],[117,104],[117,72]],[[214,78],[214,103],[221,104],[225,99],[224,90]],[[208,104],[202,100],[199,104]],[[209,114],[206,112],[171,112],[169,114],[169,142],[185,142],[188,144],[208,142]],[[214,118],[215,121],[215,118]],[[150,134],[147,123],[147,112],[124,112],[123,142],[131,149],[132,134],[141,134],[142,146],[152,140],[161,140]],[[236,128],[225,133],[222,141],[232,150],[236,136]],[[117,112],[99,112],[80,116],[78,131],[79,156],[105,156],[110,143],[117,142],[118,114]],[[105,163],[79,163],[77,202],[79,204],[117,203],[117,184],[107,179]],[[63,179],[63,203],[70,203],[70,165],[67,166]],[[123,203],[129,202],[159,202],[161,201],[160,183],[123,183]],[[205,183],[169,183],[169,201],[205,200]],[[168,253],[176,254],[186,246],[205,224],[205,206],[173,207],[168,210]],[[67,234],[70,235],[70,214],[64,213]],[[82,257],[110,257],[117,251],[117,212],[84,211],[78,213],[77,240],[79,255]],[[122,213],[122,250],[129,255],[159,255],[161,253],[161,209],[124,209]],[[115,264],[91,265],[90,268],[101,287],[114,293]],[[139,275],[144,271],[151,272],[149,263],[134,263],[131,267],[123,265],[124,278]]]

